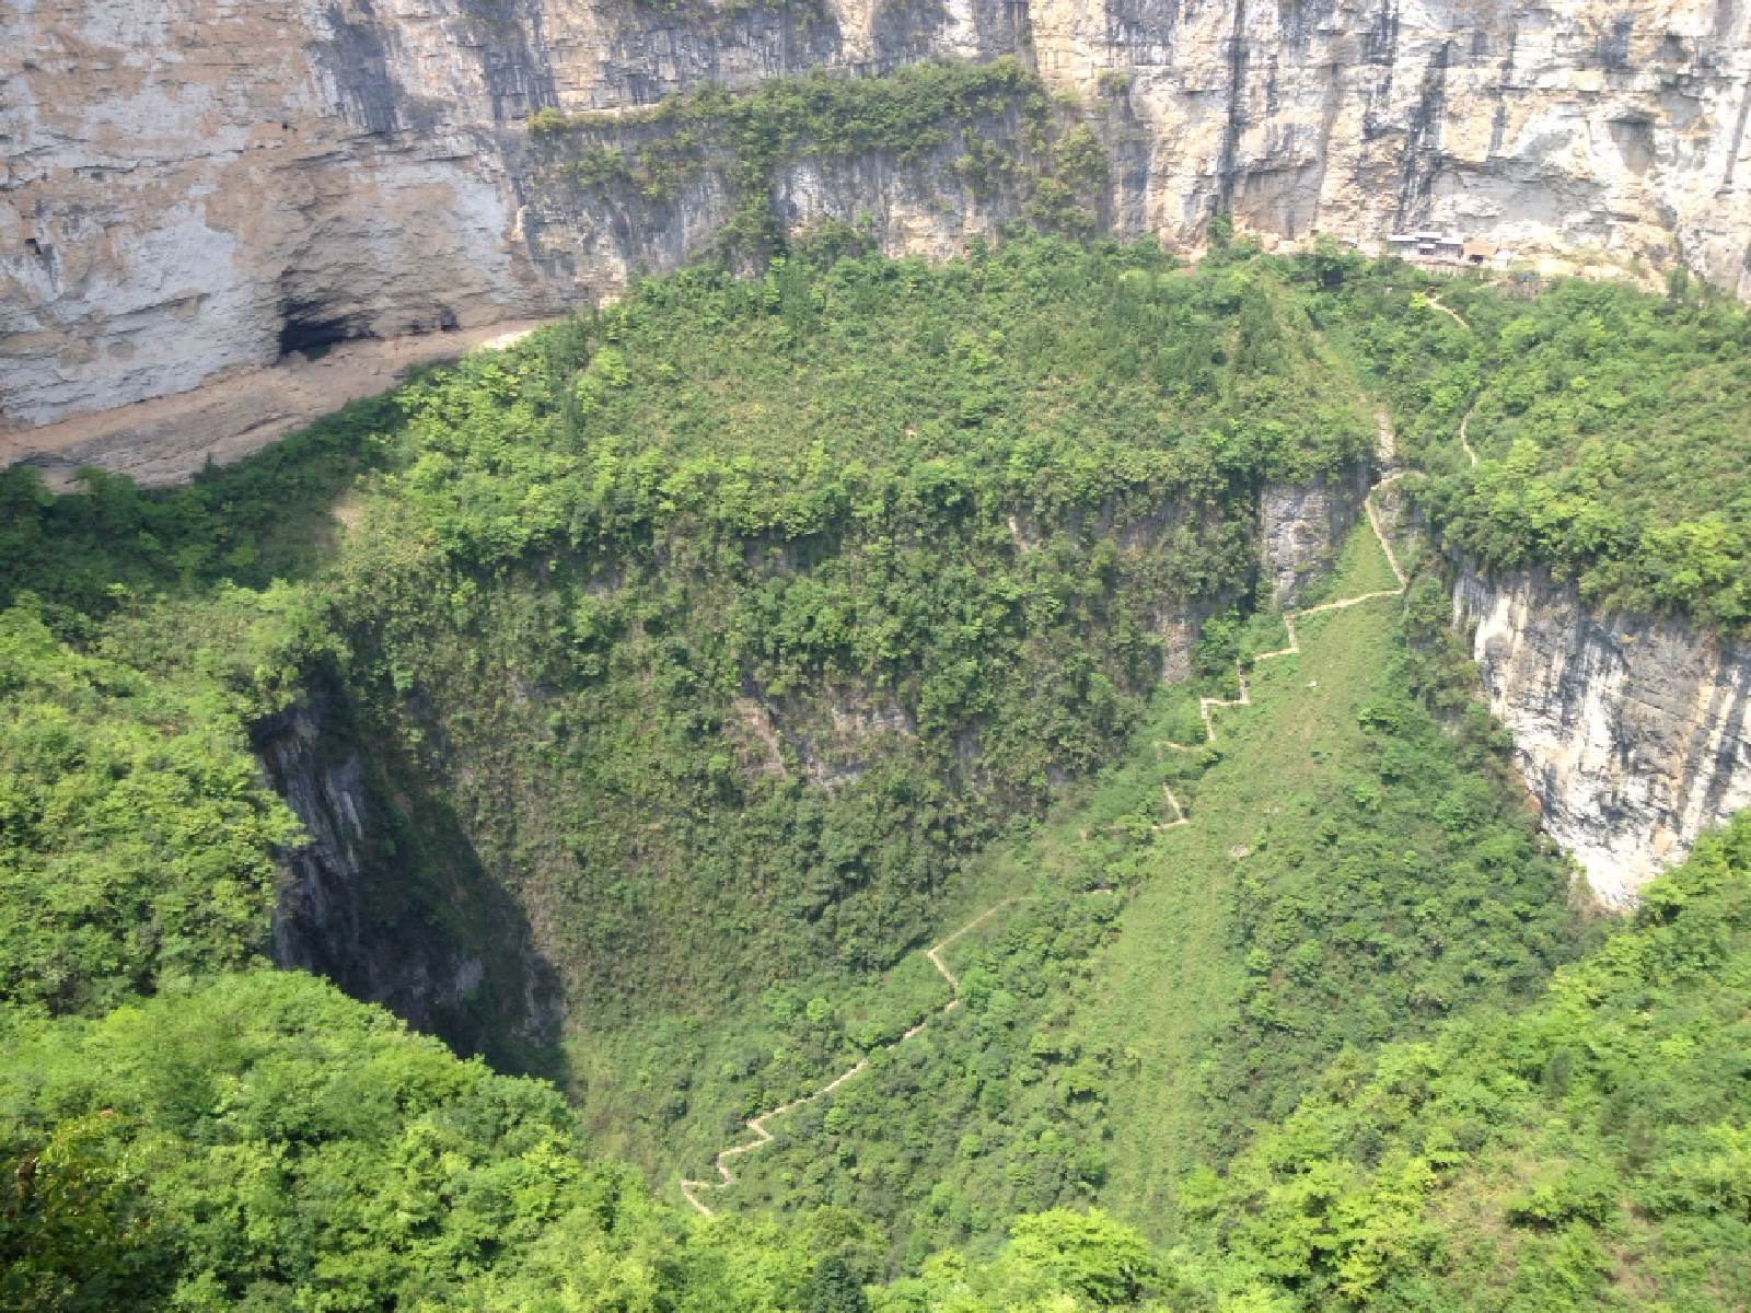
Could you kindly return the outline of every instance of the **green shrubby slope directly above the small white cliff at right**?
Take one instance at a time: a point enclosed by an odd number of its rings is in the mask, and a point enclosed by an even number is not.
[[[1304,268],[1315,313],[1392,392],[1434,474],[1418,501],[1457,548],[1546,567],[1599,609],[1751,632],[1751,313],[1683,284],[1520,299],[1334,254]]]

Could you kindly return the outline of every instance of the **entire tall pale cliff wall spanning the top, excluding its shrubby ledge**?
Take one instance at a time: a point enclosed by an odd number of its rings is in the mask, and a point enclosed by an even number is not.
[[[1443,226],[1751,294],[1739,0],[19,0],[0,11],[0,422],[285,350],[555,313],[697,254],[721,179],[555,200],[525,117],[826,67],[1019,54],[1112,161],[1105,226],[1376,243]],[[825,165],[786,221],[953,250],[944,161]]]

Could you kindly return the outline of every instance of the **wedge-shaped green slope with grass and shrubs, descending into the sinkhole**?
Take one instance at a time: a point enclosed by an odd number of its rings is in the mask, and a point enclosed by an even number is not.
[[[1333,597],[1392,579],[1366,527],[1341,560]],[[1231,678],[1164,690],[1121,765],[972,865],[967,912],[1035,902],[954,951],[967,1008],[777,1120],[713,1206],[853,1206],[902,1259],[1094,1197],[1168,1232],[1184,1176],[1285,1115],[1333,1052],[1536,987],[1576,945],[1560,865],[1506,781],[1408,702],[1401,625],[1394,599],[1299,621],[1301,655],[1254,669],[1254,706],[1215,711],[1213,751],[1159,741],[1189,739],[1187,699],[1233,695]],[[1283,644],[1269,628],[1250,627],[1254,649]],[[1404,723],[1382,734],[1390,716]],[[1417,774],[1401,795],[1380,784],[1394,755]],[[1189,825],[1157,828],[1163,781]],[[1455,800],[1445,826],[1438,797]],[[1467,868],[1469,844],[1501,863]],[[1054,900],[1080,938],[1045,914]],[[1040,942],[1065,949],[1030,956]],[[1278,993],[1340,951],[1357,961],[1329,987]],[[746,1138],[727,1127],[718,1147]]]

